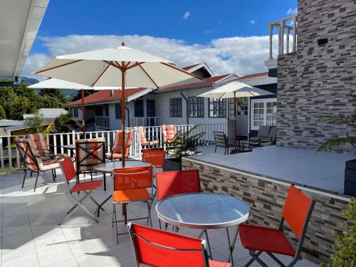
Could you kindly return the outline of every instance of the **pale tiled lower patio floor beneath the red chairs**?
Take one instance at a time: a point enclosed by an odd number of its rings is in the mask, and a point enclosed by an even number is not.
[[[36,192],[33,192],[34,177],[27,179],[25,188],[21,189],[22,176],[22,173],[0,176],[1,266],[135,266],[129,236],[120,236],[120,244],[116,245],[110,201],[100,214],[99,224],[78,210],[65,224],[58,226],[58,221],[73,205],[67,197],[61,174],[58,174],[58,182],[53,182],[51,172],[43,175]],[[100,189],[94,195],[98,201],[105,199],[112,190],[110,179],[107,180],[108,192]],[[86,206],[90,211],[95,209],[90,201]],[[129,204],[128,211],[129,216],[142,216],[147,207],[140,203]],[[157,227],[154,210],[152,219]],[[145,224],[145,221],[137,222]],[[126,231],[124,224],[120,225],[120,231]],[[186,229],[180,232],[197,234]],[[211,231],[209,237],[214,259],[225,261],[228,251],[224,231]],[[248,258],[248,252],[238,241],[234,251],[236,266],[243,266]],[[262,258],[268,266],[276,266],[268,256]],[[316,265],[303,260],[297,266]]]

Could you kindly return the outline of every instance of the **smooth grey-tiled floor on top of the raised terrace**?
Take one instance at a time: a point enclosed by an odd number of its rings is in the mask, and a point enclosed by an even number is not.
[[[290,147],[256,147],[252,152],[224,155],[224,149],[215,145],[201,147],[202,155],[192,156],[221,167],[229,167],[258,176],[279,179],[293,184],[344,192],[345,161],[355,155]]]

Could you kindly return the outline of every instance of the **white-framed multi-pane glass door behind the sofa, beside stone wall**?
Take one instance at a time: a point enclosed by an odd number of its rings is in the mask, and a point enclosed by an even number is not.
[[[276,98],[251,100],[251,130],[258,130],[261,125],[276,126]]]

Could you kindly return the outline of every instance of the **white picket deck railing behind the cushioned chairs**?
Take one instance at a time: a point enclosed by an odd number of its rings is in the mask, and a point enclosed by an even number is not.
[[[183,130],[187,131],[194,127],[194,125],[176,125],[177,131]],[[127,128],[127,130],[132,130],[132,142],[130,146],[129,157],[140,158],[143,147],[140,144],[140,132],[132,128]],[[162,142],[162,133],[160,126],[145,127],[146,136],[148,140],[158,140],[158,144],[155,148],[163,148],[165,150],[165,144]],[[205,132],[205,135],[199,140],[201,144],[208,145],[214,142],[214,131],[223,131],[227,133],[227,124],[206,124],[198,125],[197,129],[192,132]],[[106,150],[109,152],[112,149],[112,144],[115,139],[115,130],[110,131],[97,131],[97,132],[86,132],[85,138],[98,138],[104,137],[106,140]],[[15,147],[16,137],[22,138],[23,135],[9,135],[0,136],[0,169],[19,169],[21,167],[21,157],[19,151]],[[75,140],[83,139],[83,132],[66,132],[66,133],[56,133],[46,135],[47,144],[53,154],[67,153],[68,150],[65,145],[73,145]]]

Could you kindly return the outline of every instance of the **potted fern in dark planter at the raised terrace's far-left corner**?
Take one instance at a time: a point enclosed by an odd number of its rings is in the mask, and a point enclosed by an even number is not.
[[[201,142],[199,139],[205,135],[205,132],[198,132],[198,125],[195,125],[189,130],[180,130],[175,135],[174,141],[169,143],[167,151],[171,155],[169,159],[164,159],[163,170],[180,171],[182,170],[182,157],[197,155],[200,151]]]

